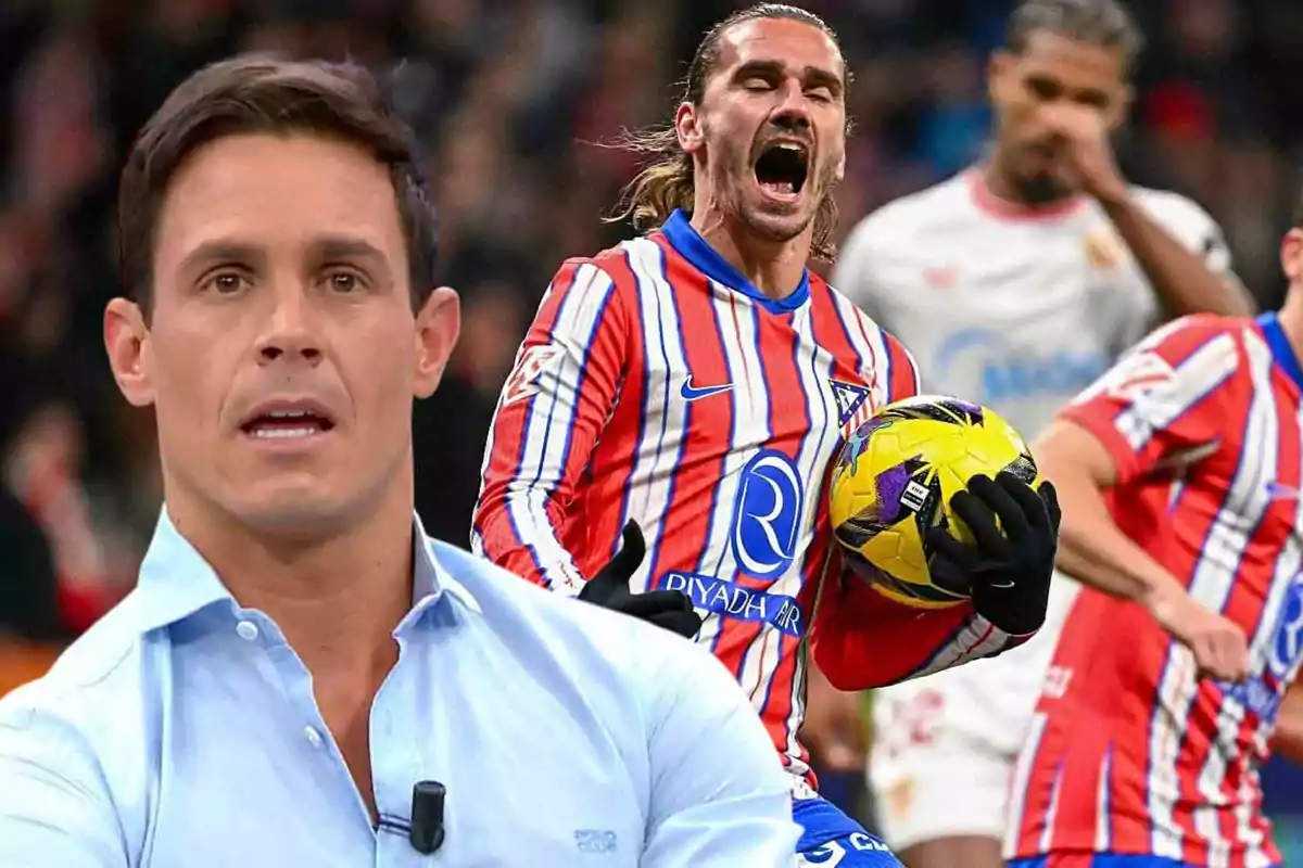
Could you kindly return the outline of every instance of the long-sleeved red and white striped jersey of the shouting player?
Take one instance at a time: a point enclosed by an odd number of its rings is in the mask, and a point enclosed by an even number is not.
[[[843,575],[833,459],[876,407],[916,390],[909,354],[821,278],[766,298],[675,213],[562,265],[498,405],[472,545],[577,593],[636,519],[648,556],[633,590],[692,599],[697,640],[805,774],[807,639],[844,688],[1020,640],[971,606],[925,613]]]

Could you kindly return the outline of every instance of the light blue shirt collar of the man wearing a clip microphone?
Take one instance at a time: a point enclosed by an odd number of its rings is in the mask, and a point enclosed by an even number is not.
[[[480,613],[480,603],[469,590],[439,563],[433,540],[421,524],[421,517],[413,514],[413,570],[412,570],[412,610],[403,618],[395,632],[409,629],[423,619],[425,613],[440,601],[455,600],[459,606]],[[141,613],[142,632],[165,627],[185,621],[201,610],[225,605],[231,612],[240,604],[214,571],[203,556],[185,539],[172,523],[167,508],[159,514],[154,528],[154,539],[141,563],[139,582],[136,596]],[[440,606],[448,608],[448,606]],[[438,623],[455,623],[456,618],[438,618]]]

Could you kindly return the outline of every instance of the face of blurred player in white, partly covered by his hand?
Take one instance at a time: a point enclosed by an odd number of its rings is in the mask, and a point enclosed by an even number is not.
[[[997,147],[1024,200],[1049,202],[1072,193],[1065,141],[1046,122],[1045,109],[1081,105],[1117,129],[1130,102],[1124,72],[1121,51],[1045,30],[1031,34],[1022,53],[994,55],[990,98]]]

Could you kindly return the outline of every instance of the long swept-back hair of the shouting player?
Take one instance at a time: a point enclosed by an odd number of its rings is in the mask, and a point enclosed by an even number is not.
[[[723,35],[735,25],[764,18],[784,18],[817,27],[840,48],[837,33],[813,12],[782,3],[761,3],[732,13],[706,31],[692,56],[692,62],[688,64],[688,75],[683,79],[683,95],[679,102],[701,105],[706,81],[719,64],[719,43]],[[611,216],[612,221],[631,220],[636,229],[654,229],[665,224],[676,208],[692,210],[694,185],[692,157],[679,147],[672,124],[666,128],[627,133],[616,144],[636,154],[645,154],[652,161],[625,187],[620,204]],[[833,245],[835,229],[837,200],[829,190],[814,215],[814,238],[810,246],[813,256],[833,260],[837,254]]]

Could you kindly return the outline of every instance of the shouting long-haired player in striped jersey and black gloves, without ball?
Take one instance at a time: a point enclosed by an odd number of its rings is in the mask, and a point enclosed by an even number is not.
[[[566,262],[521,346],[473,543],[592,599],[585,579],[622,528],[636,522],[635,545],[645,528],[632,592],[594,601],[679,617],[739,679],[794,773],[800,852],[896,864],[814,795],[797,740],[805,643],[847,690],[1019,644],[1045,616],[1058,509],[1048,485],[1042,500],[1011,476],[956,496],[989,531],[962,552],[971,604],[921,612],[843,576],[830,462],[877,407],[917,390],[908,353],[807,271],[831,254],[847,82],[835,35],[801,9],[754,7],[705,35],[672,128],[631,141],[661,157],[628,199],[653,232]],[[674,609],[680,595],[700,631]]]

